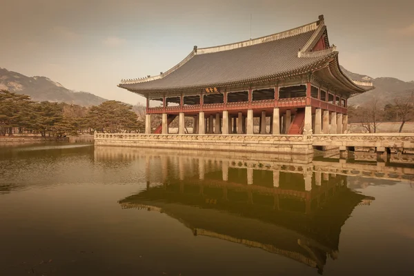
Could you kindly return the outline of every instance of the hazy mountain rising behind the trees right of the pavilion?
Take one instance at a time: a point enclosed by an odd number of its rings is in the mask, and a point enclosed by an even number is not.
[[[349,104],[362,106],[370,103],[374,97],[382,104],[394,103],[398,97],[406,97],[414,92],[414,81],[402,81],[393,77],[372,78],[350,72],[341,66],[342,72],[355,81],[372,81],[375,89],[348,99]]]

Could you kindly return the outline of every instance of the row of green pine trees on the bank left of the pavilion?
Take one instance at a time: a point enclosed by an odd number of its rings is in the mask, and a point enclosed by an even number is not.
[[[0,136],[32,133],[62,137],[95,130],[144,132],[145,121],[132,106],[120,101],[106,101],[85,108],[68,103],[32,101],[27,95],[0,90]]]

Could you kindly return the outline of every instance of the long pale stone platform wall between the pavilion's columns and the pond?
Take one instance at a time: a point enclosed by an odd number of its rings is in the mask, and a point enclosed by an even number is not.
[[[306,135],[144,135],[96,133],[98,146],[312,154]]]

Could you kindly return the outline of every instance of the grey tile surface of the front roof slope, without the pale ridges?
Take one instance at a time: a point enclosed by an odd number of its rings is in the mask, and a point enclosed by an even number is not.
[[[322,61],[328,56],[297,57],[299,49],[304,47],[314,32],[309,31],[293,37],[234,50],[195,55],[183,66],[162,79],[121,84],[120,87],[128,90],[163,90],[209,86],[299,70]]]

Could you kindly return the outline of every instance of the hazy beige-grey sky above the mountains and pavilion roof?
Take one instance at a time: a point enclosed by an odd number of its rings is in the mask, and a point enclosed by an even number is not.
[[[199,48],[262,37],[324,14],[339,63],[414,80],[409,0],[2,0],[0,67],[106,99],[144,103],[121,79],[159,75]]]

